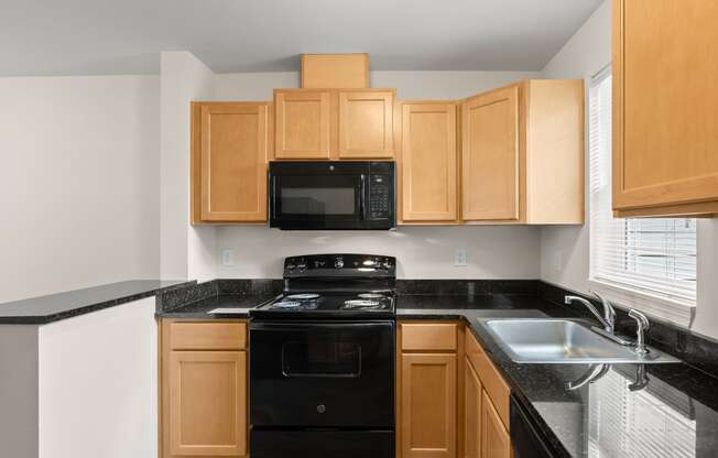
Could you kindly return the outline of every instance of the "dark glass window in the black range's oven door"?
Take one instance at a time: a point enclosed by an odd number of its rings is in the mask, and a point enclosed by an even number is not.
[[[358,378],[361,374],[361,346],[330,338],[289,341],[282,346],[284,377]]]

